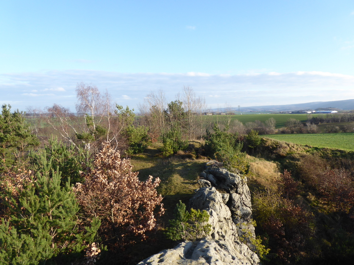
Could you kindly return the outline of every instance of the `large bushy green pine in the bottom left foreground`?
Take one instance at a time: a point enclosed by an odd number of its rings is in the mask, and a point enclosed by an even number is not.
[[[41,170],[23,187],[5,189],[3,201],[10,213],[0,225],[0,263],[38,264],[65,253],[79,253],[92,242],[100,225],[80,228],[75,194],[52,160],[41,158]],[[4,198],[6,197],[6,198]],[[61,259],[64,259],[61,257]]]

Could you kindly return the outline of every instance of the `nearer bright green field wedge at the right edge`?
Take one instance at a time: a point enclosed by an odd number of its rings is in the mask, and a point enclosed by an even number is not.
[[[336,134],[269,134],[262,135],[278,141],[297,143],[312,147],[328,147],[346,151],[354,151],[353,133]]]

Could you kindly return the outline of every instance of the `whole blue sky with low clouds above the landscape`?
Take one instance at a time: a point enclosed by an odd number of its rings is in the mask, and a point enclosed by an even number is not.
[[[81,82],[136,110],[354,99],[354,1],[2,1],[0,104],[74,112]]]

